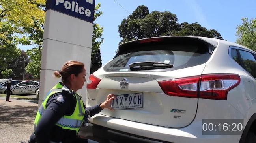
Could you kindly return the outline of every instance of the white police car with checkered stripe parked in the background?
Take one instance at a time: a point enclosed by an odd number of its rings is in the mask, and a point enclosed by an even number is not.
[[[16,85],[11,85],[11,94],[34,94],[39,90],[39,82],[37,81],[22,81]],[[1,94],[6,94],[7,86],[0,88]]]

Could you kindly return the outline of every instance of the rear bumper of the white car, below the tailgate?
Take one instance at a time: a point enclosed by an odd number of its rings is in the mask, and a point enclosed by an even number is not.
[[[241,138],[241,135],[202,135],[202,119],[183,128],[148,125],[101,114],[93,116],[90,122],[93,124],[83,127],[79,134],[100,142],[238,143]]]

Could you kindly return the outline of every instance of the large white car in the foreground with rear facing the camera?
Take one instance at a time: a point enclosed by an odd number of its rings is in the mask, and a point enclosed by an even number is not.
[[[87,89],[88,107],[116,95],[114,111],[90,118],[82,134],[87,138],[151,143],[256,139],[256,52],[232,42],[168,36],[123,43],[113,60],[89,76]],[[222,120],[203,126],[203,119]],[[239,123],[230,123],[233,119]]]

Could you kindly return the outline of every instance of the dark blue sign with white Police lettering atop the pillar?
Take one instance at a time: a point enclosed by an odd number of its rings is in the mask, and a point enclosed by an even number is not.
[[[47,0],[46,9],[93,23],[95,0]]]

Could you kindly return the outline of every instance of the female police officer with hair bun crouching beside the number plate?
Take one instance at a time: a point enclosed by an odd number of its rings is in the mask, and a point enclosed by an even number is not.
[[[84,120],[102,109],[110,107],[114,99],[109,94],[103,103],[85,109],[77,90],[82,89],[85,79],[84,64],[77,61],[66,62],[61,71],[55,71],[62,82],[57,83],[39,107],[34,123],[34,132],[28,143],[87,143],[77,133]]]

